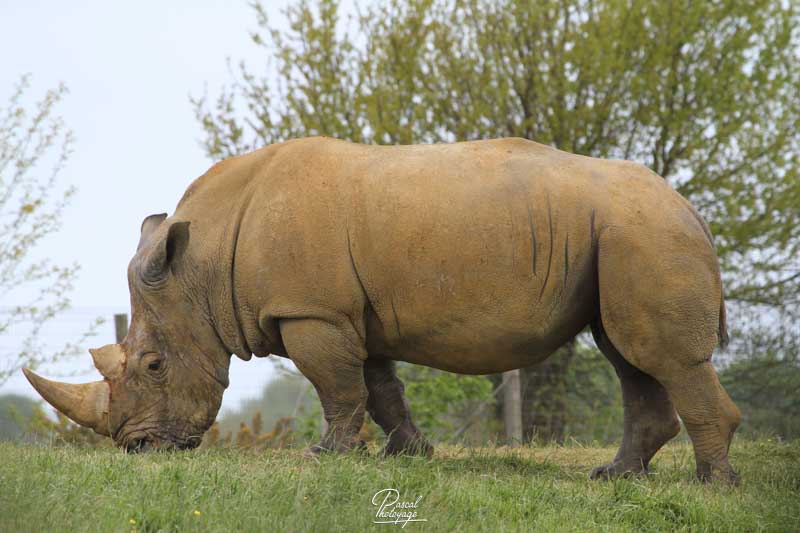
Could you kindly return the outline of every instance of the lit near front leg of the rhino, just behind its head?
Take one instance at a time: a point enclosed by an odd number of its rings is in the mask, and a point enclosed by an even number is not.
[[[359,446],[367,388],[364,384],[366,349],[350,327],[316,319],[280,322],[289,357],[317,389],[328,430],[307,450],[343,452]]]

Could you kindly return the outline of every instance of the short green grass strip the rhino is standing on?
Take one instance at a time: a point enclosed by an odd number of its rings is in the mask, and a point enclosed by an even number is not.
[[[608,447],[464,449],[433,460],[211,449],[118,450],[0,443],[0,531],[392,531],[385,488],[432,531],[800,530],[800,443],[735,442],[740,487],[694,479],[691,448],[667,446],[648,478],[590,481]]]

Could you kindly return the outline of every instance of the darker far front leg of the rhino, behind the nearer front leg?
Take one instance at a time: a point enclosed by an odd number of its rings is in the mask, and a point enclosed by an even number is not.
[[[369,358],[364,362],[364,380],[369,391],[367,411],[386,433],[384,455],[422,455],[431,457],[431,446],[411,420],[403,382],[397,377],[394,361]]]

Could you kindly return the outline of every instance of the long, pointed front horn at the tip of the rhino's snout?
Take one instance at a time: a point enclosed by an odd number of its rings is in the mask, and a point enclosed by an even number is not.
[[[27,368],[22,372],[33,388],[47,403],[78,424],[95,430],[100,435],[111,436],[108,427],[108,401],[111,389],[105,381],[73,385],[50,381],[37,376]]]

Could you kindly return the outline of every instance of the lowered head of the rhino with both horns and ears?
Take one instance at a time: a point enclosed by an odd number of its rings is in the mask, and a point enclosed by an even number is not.
[[[128,266],[128,335],[89,350],[102,381],[59,383],[23,370],[53,407],[129,451],[196,447],[228,385],[230,352],[189,248],[188,222],[161,214],[142,223]]]

